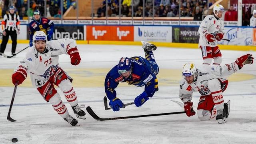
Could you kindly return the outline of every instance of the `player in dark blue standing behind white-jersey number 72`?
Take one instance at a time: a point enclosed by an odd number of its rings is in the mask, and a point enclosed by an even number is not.
[[[29,23],[28,33],[30,36],[29,46],[33,46],[33,35],[36,31],[43,31],[47,35],[47,40],[52,40],[54,23],[48,18],[40,17],[40,11],[35,10],[33,20]]]

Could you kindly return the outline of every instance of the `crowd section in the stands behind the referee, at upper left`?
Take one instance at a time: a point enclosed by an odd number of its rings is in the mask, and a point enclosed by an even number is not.
[[[46,0],[46,14],[44,14],[44,0],[30,0],[29,4],[28,0],[0,0],[0,19],[8,13],[9,6],[15,6],[15,13],[20,16],[21,20],[28,16],[32,17],[34,10],[39,10],[41,16],[60,18],[61,1],[63,1],[63,14],[70,6],[76,8],[76,0]]]

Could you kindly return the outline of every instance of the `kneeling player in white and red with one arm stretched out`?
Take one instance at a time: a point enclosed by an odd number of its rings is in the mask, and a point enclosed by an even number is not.
[[[230,108],[230,101],[224,103],[222,95],[228,86],[226,78],[245,64],[252,64],[253,59],[251,54],[246,54],[229,64],[210,66],[202,64],[200,68],[196,68],[193,63],[186,63],[182,70],[184,78],[180,81],[179,90],[179,97],[184,103],[186,115],[196,114],[191,100],[193,92],[199,92],[201,94],[197,106],[199,120],[216,119],[219,124],[226,123]]]

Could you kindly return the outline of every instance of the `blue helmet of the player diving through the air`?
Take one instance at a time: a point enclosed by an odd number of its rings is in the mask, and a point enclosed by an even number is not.
[[[117,66],[118,73],[126,73],[132,69],[132,64],[130,58],[122,57],[120,58]]]

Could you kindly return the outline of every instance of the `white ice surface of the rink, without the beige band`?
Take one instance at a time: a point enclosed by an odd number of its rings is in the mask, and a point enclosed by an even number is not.
[[[10,55],[10,45],[6,54]],[[27,45],[18,44],[16,52]],[[60,66],[65,68],[112,68],[122,56],[144,56],[140,46],[118,45],[79,45],[82,62],[71,66],[69,56],[60,57]],[[26,53],[21,52],[13,58],[0,57],[1,69],[13,69],[18,60]],[[222,50],[223,62],[233,62],[243,54],[256,52]],[[199,49],[164,48],[154,51],[156,62],[161,69],[182,69],[186,62],[202,63]],[[256,66],[245,65],[239,73],[255,75]],[[172,73],[170,73],[172,75]],[[180,77],[181,78],[181,77]],[[104,81],[104,79],[102,79]],[[159,80],[160,81],[160,80]],[[159,82],[160,83],[160,82]],[[104,110],[104,88],[76,88],[79,104],[91,106],[102,117],[120,117],[142,114],[157,114],[183,111],[178,98],[179,85],[161,86],[143,106],[127,106],[119,112]],[[255,79],[230,82],[224,92],[224,100],[231,100],[230,115],[226,124],[216,120],[200,121],[197,115],[186,114],[131,118],[123,120],[96,121],[88,112],[86,120],[78,119],[80,126],[72,127],[46,103],[32,87],[17,88],[11,116],[22,122],[6,120],[14,87],[0,87],[0,144],[253,144],[256,143],[256,83]],[[143,88],[130,86],[118,87],[118,97],[124,102],[132,102]],[[58,92],[59,89],[58,89]],[[60,92],[68,111],[71,106]],[[194,109],[199,94],[194,93]],[[84,108],[85,110],[85,108]],[[86,111],[86,110],[85,110]]]

